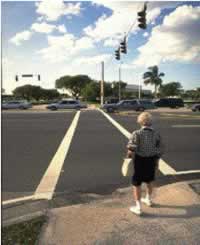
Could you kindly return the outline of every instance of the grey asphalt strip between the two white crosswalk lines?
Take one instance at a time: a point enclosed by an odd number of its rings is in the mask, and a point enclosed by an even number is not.
[[[100,112],[82,112],[56,193],[107,193],[127,184],[120,170],[126,144],[126,138]]]

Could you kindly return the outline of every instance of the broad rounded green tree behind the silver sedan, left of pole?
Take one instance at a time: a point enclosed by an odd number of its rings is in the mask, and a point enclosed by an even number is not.
[[[92,79],[87,75],[63,76],[56,80],[56,88],[70,89],[72,95],[78,98],[81,95],[81,90],[92,82]]]

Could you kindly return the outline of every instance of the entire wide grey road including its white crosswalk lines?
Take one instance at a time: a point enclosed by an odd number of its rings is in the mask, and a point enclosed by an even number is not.
[[[138,128],[137,115],[111,114],[114,125],[98,110],[3,112],[4,203],[63,192],[104,194],[129,185],[120,169],[127,134]],[[200,114],[175,110],[153,116],[165,142],[168,171],[200,172]]]

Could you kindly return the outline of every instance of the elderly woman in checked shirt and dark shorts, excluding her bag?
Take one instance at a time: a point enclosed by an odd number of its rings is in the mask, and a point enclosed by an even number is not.
[[[141,128],[132,133],[127,148],[128,157],[134,153],[134,175],[132,177],[133,196],[135,206],[130,211],[140,215],[141,202],[152,205],[153,181],[158,167],[159,158],[162,155],[162,142],[160,134],[152,128],[152,115],[148,112],[141,113],[137,122]],[[141,184],[146,183],[146,197],[141,199]]]

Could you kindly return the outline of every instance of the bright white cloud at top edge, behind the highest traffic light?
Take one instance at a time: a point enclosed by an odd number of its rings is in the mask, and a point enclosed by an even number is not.
[[[93,2],[96,5],[103,5],[112,11],[110,16],[102,15],[94,25],[89,25],[84,29],[86,35],[101,41],[112,37],[113,40],[119,40],[132,26],[132,33],[138,31],[137,12],[143,8],[143,2],[113,2],[100,1]],[[171,2],[149,2],[147,11],[147,22],[154,23],[160,15],[162,9],[173,8],[177,3]],[[133,24],[135,23],[135,24]],[[109,41],[105,42],[107,45]]]

